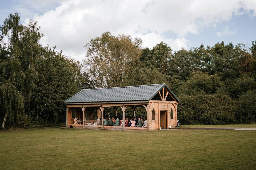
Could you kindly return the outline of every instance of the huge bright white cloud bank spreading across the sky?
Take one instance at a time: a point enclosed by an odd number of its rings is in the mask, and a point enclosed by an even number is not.
[[[178,50],[187,48],[188,33],[198,34],[206,27],[216,27],[233,15],[255,16],[255,11],[253,0],[70,0],[43,15],[35,15],[33,20],[38,21],[41,32],[46,35],[41,41],[43,45],[57,45],[58,50],[63,49],[65,54],[82,60],[83,45],[105,31],[139,36],[144,47],[165,41]],[[175,37],[164,36],[168,33]]]

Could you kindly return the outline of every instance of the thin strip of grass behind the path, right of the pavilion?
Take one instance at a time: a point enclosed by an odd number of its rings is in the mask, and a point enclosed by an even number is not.
[[[181,128],[256,128],[256,123],[234,125],[181,125]]]

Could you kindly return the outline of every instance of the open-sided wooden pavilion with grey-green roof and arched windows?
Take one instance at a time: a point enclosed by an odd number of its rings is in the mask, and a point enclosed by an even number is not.
[[[152,131],[174,128],[177,125],[177,104],[179,99],[166,84],[150,84],[143,86],[113,87],[81,90],[64,101],[67,107],[67,128],[108,129]],[[104,108],[113,107],[117,115],[117,108],[121,107],[123,117],[127,107],[133,109],[133,116],[137,107],[144,107],[147,112],[147,128],[123,126],[105,126]],[[101,117],[102,125],[94,124],[94,113]],[[74,124],[75,117],[80,118],[81,124]]]

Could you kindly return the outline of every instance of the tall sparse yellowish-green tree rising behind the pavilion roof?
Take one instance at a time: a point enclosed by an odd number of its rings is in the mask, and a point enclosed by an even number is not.
[[[105,32],[86,44],[85,68],[99,87],[118,87],[131,72],[141,55],[141,40],[130,36],[117,37]]]

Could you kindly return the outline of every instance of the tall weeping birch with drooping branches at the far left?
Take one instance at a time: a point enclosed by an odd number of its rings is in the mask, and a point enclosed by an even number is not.
[[[11,105],[18,106],[19,112],[29,112],[31,95],[38,80],[35,66],[42,52],[39,40],[43,34],[39,33],[39,28],[37,23],[31,20],[27,26],[22,25],[17,13],[10,14],[0,28],[2,84],[0,91],[3,97],[1,107],[5,112],[3,125],[7,115],[11,114],[9,109]],[[8,43],[5,43],[6,40]],[[6,83],[9,87],[6,87]],[[13,100],[15,97],[18,97],[18,100]],[[16,120],[15,123],[21,122],[21,117],[18,115],[13,115],[12,119]]]

